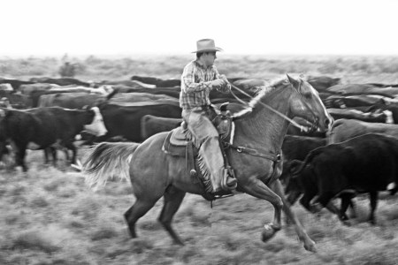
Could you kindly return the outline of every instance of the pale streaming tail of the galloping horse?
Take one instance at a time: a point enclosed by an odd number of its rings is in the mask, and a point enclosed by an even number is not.
[[[131,156],[140,144],[134,142],[102,142],[88,151],[83,174],[88,186],[104,186],[108,178],[128,179]]]

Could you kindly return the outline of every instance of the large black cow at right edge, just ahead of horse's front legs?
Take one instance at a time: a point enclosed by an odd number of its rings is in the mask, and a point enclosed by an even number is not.
[[[368,133],[312,150],[292,181],[295,180],[302,189],[304,194],[300,202],[309,210],[313,210],[310,201],[317,195],[316,202],[325,207],[342,191],[370,193],[368,221],[375,223],[379,191],[397,191],[397,165],[398,140],[384,134]],[[341,212],[346,209],[341,208]]]

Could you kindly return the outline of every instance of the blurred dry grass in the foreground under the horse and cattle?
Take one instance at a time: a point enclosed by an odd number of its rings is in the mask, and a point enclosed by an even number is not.
[[[130,239],[123,219],[134,202],[134,196],[126,193],[128,183],[109,182],[93,193],[80,174],[38,169],[35,163],[30,164],[34,173],[1,172],[2,264],[396,264],[398,260],[395,197],[379,202],[376,226],[362,220],[369,210],[366,197],[356,200],[358,219],[351,227],[327,211],[313,216],[295,206],[318,245],[318,254],[310,254],[290,226],[268,243],[261,241],[262,225],[273,216],[265,201],[240,194],[210,208],[201,197],[188,195],[174,218],[174,228],[186,246],[174,246],[157,223],[162,201],[137,223],[139,238]]]

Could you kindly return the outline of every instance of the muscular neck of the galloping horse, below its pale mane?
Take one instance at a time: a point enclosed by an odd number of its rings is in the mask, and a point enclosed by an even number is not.
[[[264,103],[289,117],[290,94],[287,89],[267,95]],[[235,121],[233,144],[248,148],[264,148],[279,153],[288,125],[285,118],[257,103],[248,116]]]

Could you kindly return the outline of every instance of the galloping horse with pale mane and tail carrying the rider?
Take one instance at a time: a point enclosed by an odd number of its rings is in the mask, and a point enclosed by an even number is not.
[[[305,249],[315,251],[315,243],[290,209],[279,179],[268,184],[274,170],[277,170],[277,177],[281,173],[281,167],[275,167],[275,159],[271,157],[276,157],[281,152],[289,125],[288,118],[302,117],[320,131],[328,130],[333,118],[325,110],[318,92],[307,81],[288,75],[287,79],[279,79],[270,87],[264,87],[249,105],[251,109],[233,117],[233,145],[250,149],[256,155],[232,148],[226,150],[238,180],[236,190],[272,203],[274,219],[272,223],[264,225],[263,241],[271,239],[281,229],[283,208],[295,223],[295,230]],[[141,145],[132,144],[130,148],[126,143],[101,143],[88,155],[84,171],[91,186],[103,185],[116,172],[120,177],[128,178],[126,172],[129,171],[136,201],[126,211],[125,218],[133,238],[136,237],[137,220],[161,197],[165,197],[165,205],[158,220],[173,241],[182,245],[181,239],[172,229],[172,217],[180,208],[185,194],[203,194],[203,186],[187,176],[184,158],[162,152],[167,134],[157,133]]]

